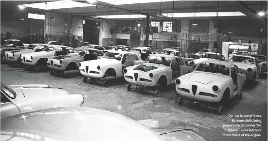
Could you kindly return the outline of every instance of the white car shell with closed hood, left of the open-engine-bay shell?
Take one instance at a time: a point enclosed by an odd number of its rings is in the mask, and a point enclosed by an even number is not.
[[[128,51],[112,50],[109,52],[120,53],[123,56],[125,54],[136,55],[135,53],[128,52]],[[142,59],[139,56],[137,56],[137,58],[138,58],[138,60],[133,61],[133,65],[144,63],[144,61],[142,61]],[[116,77],[116,78],[123,77],[124,74],[123,74],[122,68],[124,67],[124,65],[122,64],[122,60],[123,60],[123,57],[121,58],[120,61],[116,60],[116,59],[108,59],[108,58],[102,58],[102,59],[91,60],[91,61],[84,61],[84,62],[81,62],[79,64],[80,73],[83,76],[86,76],[89,78],[105,78],[105,74],[106,74],[107,70],[112,69],[115,72],[114,77]],[[98,66],[100,66],[100,70],[97,69]],[[128,67],[128,66],[126,66],[126,67]]]

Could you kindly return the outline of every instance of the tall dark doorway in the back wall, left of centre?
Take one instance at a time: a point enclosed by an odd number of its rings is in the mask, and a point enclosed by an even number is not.
[[[96,25],[95,20],[85,19],[85,24],[83,25],[83,42],[89,42],[90,44],[99,45],[99,25]]]

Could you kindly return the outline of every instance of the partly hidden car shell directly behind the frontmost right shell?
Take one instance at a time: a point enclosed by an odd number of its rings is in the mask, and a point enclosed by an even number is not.
[[[220,53],[206,52],[206,53],[203,53],[199,59],[189,61],[187,64],[193,66],[193,69],[195,69],[197,67],[198,63],[205,61],[205,60],[227,61],[227,60],[225,60],[225,57]]]

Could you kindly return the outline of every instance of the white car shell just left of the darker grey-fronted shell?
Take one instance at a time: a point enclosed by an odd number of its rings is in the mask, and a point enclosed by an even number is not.
[[[31,53],[23,53],[21,54],[21,62],[26,65],[26,66],[35,66],[36,63],[40,60],[43,59],[44,61],[46,61],[46,58],[48,57],[53,57],[55,50],[59,47],[61,48],[69,48],[69,49],[73,49],[71,47],[67,47],[67,46],[61,46],[61,45],[52,45],[52,46],[48,46],[48,47],[53,47],[54,50],[50,50],[50,51],[40,51],[40,52],[31,52]],[[31,56],[33,57],[33,59],[31,59]]]

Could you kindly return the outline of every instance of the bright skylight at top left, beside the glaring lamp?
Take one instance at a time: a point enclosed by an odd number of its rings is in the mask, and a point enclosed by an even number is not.
[[[43,9],[43,10],[52,10],[52,9],[63,9],[63,8],[88,7],[88,6],[94,6],[94,5],[71,1],[71,0],[61,0],[61,1],[32,3],[30,5],[23,4],[23,6],[31,7],[31,8],[38,8],[38,9]]]

